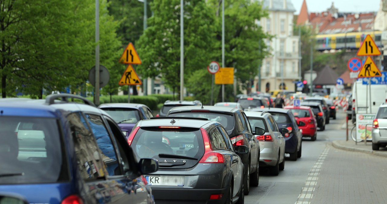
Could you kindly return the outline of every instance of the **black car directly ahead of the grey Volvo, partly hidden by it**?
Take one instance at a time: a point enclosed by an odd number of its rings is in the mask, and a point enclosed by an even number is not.
[[[250,182],[253,186],[259,184],[259,142],[252,134],[250,123],[245,112],[239,108],[222,106],[182,106],[172,108],[168,117],[199,117],[221,123],[226,129],[233,146],[245,145],[249,153],[240,154],[245,165],[245,195],[250,192]],[[251,177],[250,177],[251,175]]]

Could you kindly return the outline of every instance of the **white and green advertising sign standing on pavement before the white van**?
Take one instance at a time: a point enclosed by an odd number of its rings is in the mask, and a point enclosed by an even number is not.
[[[372,141],[372,123],[376,114],[356,114],[356,140]]]

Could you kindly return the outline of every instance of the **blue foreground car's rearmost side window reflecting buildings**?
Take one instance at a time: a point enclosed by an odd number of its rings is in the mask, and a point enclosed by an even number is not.
[[[75,156],[80,174],[84,179],[96,179],[104,176],[103,164],[94,135],[86,125],[81,113],[70,113],[71,134],[74,142]]]

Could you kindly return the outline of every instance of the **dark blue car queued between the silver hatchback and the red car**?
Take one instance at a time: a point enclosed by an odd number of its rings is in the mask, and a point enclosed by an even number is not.
[[[274,120],[277,122],[278,127],[281,129],[285,127],[289,132],[282,133],[285,138],[285,153],[290,154],[290,160],[296,161],[301,157],[302,149],[302,132],[298,128],[298,125],[305,125],[304,122],[297,123],[296,118],[290,109],[284,108],[253,108],[252,111],[266,111],[269,112]]]

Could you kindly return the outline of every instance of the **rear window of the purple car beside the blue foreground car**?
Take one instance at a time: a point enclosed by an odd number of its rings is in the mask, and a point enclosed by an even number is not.
[[[140,120],[139,110],[135,108],[101,108],[116,123],[137,123]]]

